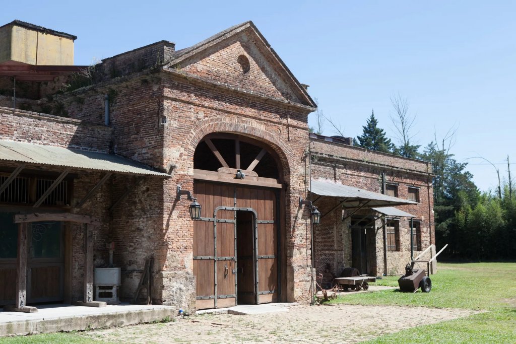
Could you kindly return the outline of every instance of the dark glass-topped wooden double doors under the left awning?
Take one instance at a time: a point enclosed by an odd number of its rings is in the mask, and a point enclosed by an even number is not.
[[[0,305],[14,304],[18,225],[0,213]],[[27,304],[63,301],[65,268],[62,222],[33,222],[27,248]]]

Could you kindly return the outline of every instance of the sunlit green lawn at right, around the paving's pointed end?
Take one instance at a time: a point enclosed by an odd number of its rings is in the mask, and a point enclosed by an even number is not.
[[[398,277],[378,285],[398,286]],[[384,335],[366,343],[516,343],[516,263],[439,264],[430,293],[385,290],[332,303],[487,309],[491,312]],[[422,316],[424,316],[422,314]]]

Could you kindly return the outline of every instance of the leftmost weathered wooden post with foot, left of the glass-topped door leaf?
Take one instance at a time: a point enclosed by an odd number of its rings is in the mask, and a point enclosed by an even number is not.
[[[25,305],[27,298],[27,255],[28,255],[28,224],[20,223],[18,225],[18,258],[17,258],[17,274],[16,274],[16,304],[4,306],[7,312],[38,312],[36,307],[28,307]]]

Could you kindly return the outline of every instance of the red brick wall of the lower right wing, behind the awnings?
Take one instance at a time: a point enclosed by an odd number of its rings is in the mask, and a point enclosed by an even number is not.
[[[326,142],[319,139],[311,139],[312,148],[312,178],[327,179],[332,182],[342,183],[345,185],[356,186],[369,191],[382,192],[382,173],[386,175],[386,183],[398,185],[398,198],[408,199],[408,187],[420,188],[420,203],[416,205],[397,206],[397,208],[407,211],[415,216],[415,220],[421,221],[421,241],[422,249],[426,249],[430,244],[435,243],[435,232],[433,223],[433,189],[431,185],[431,174],[429,174],[430,164],[424,161],[414,159],[406,159],[397,157],[392,154],[384,154],[373,151],[367,151],[361,148],[349,145]],[[336,200],[333,202],[327,200],[322,203],[319,208],[325,214],[335,206]],[[319,206],[319,204],[317,204]],[[340,212],[338,209],[335,213]],[[364,212],[364,214],[367,214]],[[370,212],[374,215],[374,212]],[[349,229],[341,226],[341,216],[330,216],[325,218],[321,225],[315,226],[315,237],[317,238],[315,245],[316,256],[320,256],[317,260],[317,271],[326,271],[326,264],[330,264],[335,274],[340,273],[338,269],[341,266],[351,266],[351,244],[342,244],[343,233]],[[381,221],[376,222],[376,227],[381,227]],[[400,250],[387,254],[387,270],[384,271],[383,259],[383,233],[377,230],[376,234],[370,232],[367,234],[372,242],[376,241],[376,245],[371,244],[368,248],[368,260],[370,265],[370,273],[373,274],[401,274],[404,267],[410,260],[410,222],[407,218],[399,221],[399,238]],[[325,239],[321,239],[321,238]],[[351,240],[350,234],[348,235]],[[337,241],[332,241],[335,238]],[[369,240],[368,239],[368,240]],[[338,241],[341,240],[341,241]],[[328,257],[322,252],[334,252],[335,256],[342,257],[341,260],[332,260],[332,254]],[[415,253],[417,255],[417,253]],[[326,277],[326,276],[325,276]],[[325,278],[325,282],[329,282]]]

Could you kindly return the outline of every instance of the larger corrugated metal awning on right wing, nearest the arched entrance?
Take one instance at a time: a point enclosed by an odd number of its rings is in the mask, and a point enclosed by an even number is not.
[[[367,191],[356,187],[329,181],[312,181],[311,191],[320,196],[336,197],[343,202],[344,208],[357,208],[367,202],[367,208],[393,205],[417,204],[416,202]]]

